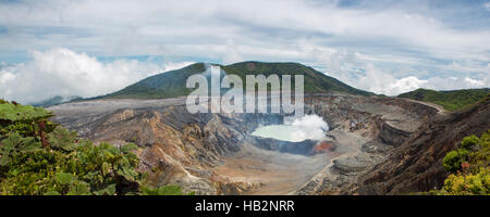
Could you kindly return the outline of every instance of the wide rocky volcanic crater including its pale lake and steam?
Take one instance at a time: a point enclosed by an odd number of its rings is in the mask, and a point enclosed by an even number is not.
[[[150,183],[197,194],[339,193],[437,113],[402,99],[344,93],[305,97],[306,115],[291,123],[283,114],[191,114],[185,98],[49,110],[53,122],[84,138],[135,142]]]

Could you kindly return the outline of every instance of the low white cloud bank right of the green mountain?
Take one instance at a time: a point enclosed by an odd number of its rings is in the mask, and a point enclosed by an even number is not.
[[[382,56],[371,56],[346,50],[320,52],[316,56],[319,58],[318,61],[324,62],[327,67],[322,71],[329,76],[355,88],[387,95],[397,95],[418,88],[454,90],[490,86],[488,79],[490,67],[468,61],[434,67],[453,75],[442,77],[414,69],[414,65],[411,64],[407,67],[401,67],[400,60],[390,65],[385,64],[387,60]],[[409,62],[409,60],[405,61]],[[471,73],[476,73],[476,77],[469,77]],[[420,75],[424,75],[424,78]]]

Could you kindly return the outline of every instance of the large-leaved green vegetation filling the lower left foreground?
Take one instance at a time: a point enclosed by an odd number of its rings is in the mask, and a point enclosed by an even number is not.
[[[95,145],[50,123],[51,116],[41,107],[0,100],[0,194],[184,194],[176,186],[145,186],[135,144]]]

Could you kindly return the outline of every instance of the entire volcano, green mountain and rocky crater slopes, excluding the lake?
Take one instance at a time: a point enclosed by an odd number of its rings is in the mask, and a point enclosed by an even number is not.
[[[401,194],[440,187],[454,142],[490,127],[488,98],[464,112],[375,95],[297,63],[243,62],[226,74],[305,75],[305,114],[328,124],[321,140],[257,137],[284,114],[189,113],[185,79],[197,63],[107,95],[48,107],[97,142],[139,146],[150,184],[197,194]],[[445,133],[446,131],[452,133]]]

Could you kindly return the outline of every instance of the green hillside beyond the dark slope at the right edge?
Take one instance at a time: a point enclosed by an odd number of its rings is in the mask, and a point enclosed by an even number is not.
[[[489,94],[489,88],[450,91],[417,89],[411,92],[402,93],[399,97],[431,102],[444,106],[448,111],[457,111],[475,104]]]

